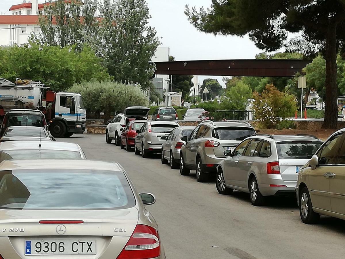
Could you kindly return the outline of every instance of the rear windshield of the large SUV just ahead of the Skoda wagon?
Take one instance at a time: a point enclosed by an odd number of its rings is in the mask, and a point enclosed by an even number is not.
[[[245,127],[219,127],[212,132],[214,138],[218,140],[244,140],[247,137],[255,134],[255,130]]]

